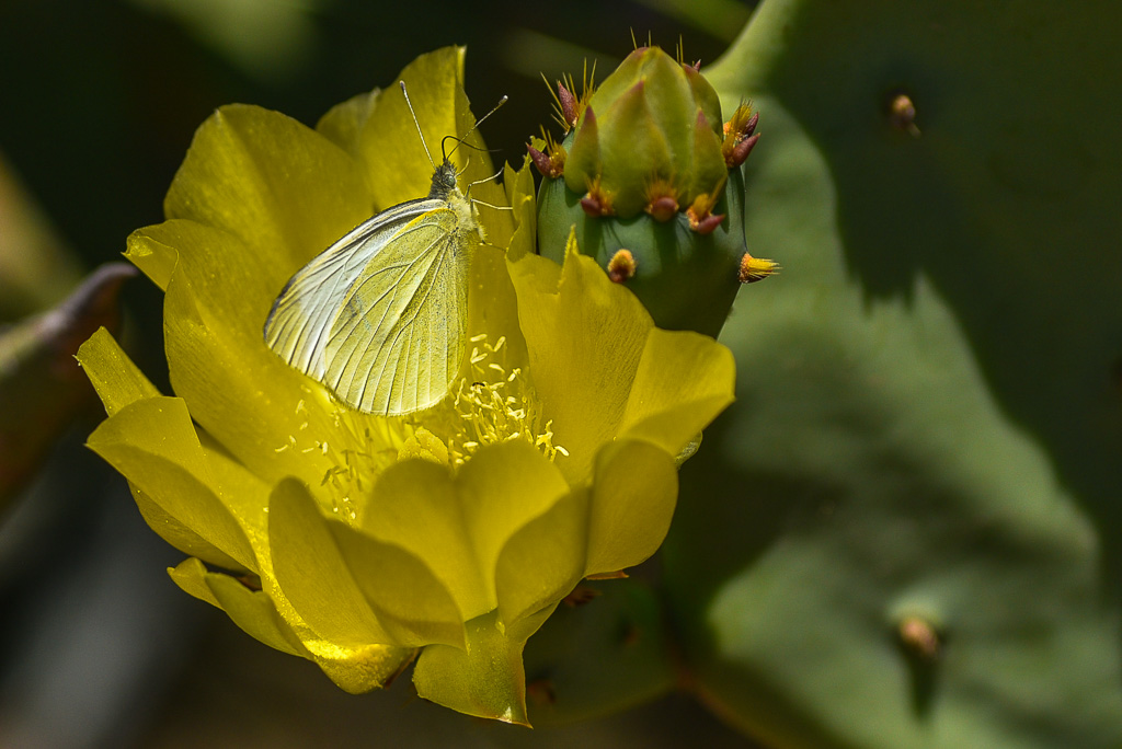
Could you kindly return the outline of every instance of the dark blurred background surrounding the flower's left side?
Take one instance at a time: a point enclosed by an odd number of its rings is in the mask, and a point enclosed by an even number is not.
[[[488,145],[521,163],[551,124],[542,74],[579,78],[596,59],[603,77],[632,33],[708,63],[751,4],[2,0],[0,324],[57,303],[159,222],[194,129],[221,104],[314,124],[416,55],[463,44],[476,109],[512,100]],[[137,278],[122,298],[123,339],[166,390],[162,295]],[[684,697],[531,733],[423,703],[407,678],[343,694],[175,589],[164,568],[182,555],[82,446],[99,418],[88,403],[0,503],[0,746],[751,746]]]

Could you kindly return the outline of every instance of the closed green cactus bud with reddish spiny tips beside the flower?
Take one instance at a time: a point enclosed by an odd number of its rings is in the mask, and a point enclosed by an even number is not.
[[[698,66],[657,47],[633,52],[590,96],[571,87],[558,89],[560,121],[574,123],[564,141],[530,146],[544,176],[541,253],[561,261],[576,228],[580,251],[660,327],[716,335],[741,283],[775,268],[747,253],[742,223],[757,118],[744,105],[724,123]]]

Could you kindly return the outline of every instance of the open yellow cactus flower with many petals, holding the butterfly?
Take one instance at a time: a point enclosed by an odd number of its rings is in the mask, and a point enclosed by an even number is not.
[[[462,70],[463,49],[447,48],[402,73],[434,152],[473,122]],[[485,151],[465,151],[463,183],[491,174]],[[472,187],[513,210],[480,206],[490,246],[473,250],[452,394],[408,416],[346,407],[268,349],[265,317],[297,268],[425,195],[431,174],[396,87],[314,130],[220,109],[167,220],[128,243],[166,295],[176,397],[100,331],[80,352],[109,415],[89,444],[188,556],[176,584],[252,637],[355,693],[415,657],[422,696],[527,723],[523,645],[581,579],[659,547],[675,457],[730,403],[733,358],[654,327],[574,247],[563,267],[534,255],[533,182],[507,167],[503,186]]]

